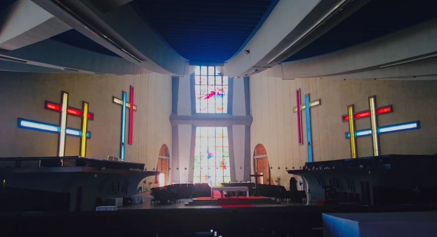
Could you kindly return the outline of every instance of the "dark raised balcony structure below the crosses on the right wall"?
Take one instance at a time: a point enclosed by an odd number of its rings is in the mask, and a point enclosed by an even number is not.
[[[314,199],[363,205],[423,204],[437,200],[437,155],[389,154],[306,163],[288,174],[303,178]]]

